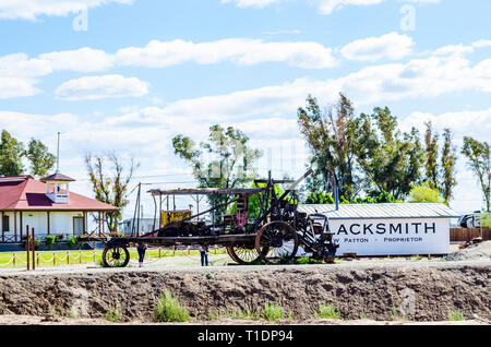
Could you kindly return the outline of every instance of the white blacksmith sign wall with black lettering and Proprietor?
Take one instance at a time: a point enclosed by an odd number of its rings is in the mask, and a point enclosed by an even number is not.
[[[359,219],[330,220],[337,254],[358,255],[447,254],[450,220]]]

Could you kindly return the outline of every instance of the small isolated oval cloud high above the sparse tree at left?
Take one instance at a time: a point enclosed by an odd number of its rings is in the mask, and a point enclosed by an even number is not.
[[[136,77],[118,74],[70,80],[55,92],[63,100],[95,100],[113,97],[136,97],[148,93],[148,85]]]

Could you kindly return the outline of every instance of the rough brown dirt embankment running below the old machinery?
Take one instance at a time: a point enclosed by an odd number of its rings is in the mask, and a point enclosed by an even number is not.
[[[84,270],[0,275],[0,313],[148,322],[169,289],[191,314],[282,303],[294,319],[311,319],[333,302],[344,319],[444,321],[448,312],[491,319],[491,263],[399,265],[228,266],[195,270]]]

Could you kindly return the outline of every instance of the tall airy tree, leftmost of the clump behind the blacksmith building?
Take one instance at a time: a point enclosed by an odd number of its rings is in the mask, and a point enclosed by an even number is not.
[[[326,192],[334,178],[339,194],[348,201],[355,199],[362,182],[356,170],[357,120],[350,99],[339,93],[337,104],[322,110],[318,99],[309,95],[306,107],[298,108],[297,115],[315,167],[313,178],[308,180],[310,190]]]

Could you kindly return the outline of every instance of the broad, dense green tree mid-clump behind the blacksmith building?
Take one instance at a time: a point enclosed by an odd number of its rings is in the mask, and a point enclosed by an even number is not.
[[[412,128],[402,133],[397,125],[397,118],[387,107],[360,115],[356,153],[370,182],[370,195],[387,192],[396,200],[404,199],[421,180],[424,152],[419,131]]]

